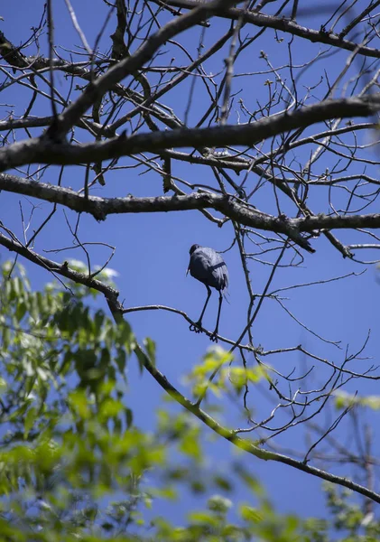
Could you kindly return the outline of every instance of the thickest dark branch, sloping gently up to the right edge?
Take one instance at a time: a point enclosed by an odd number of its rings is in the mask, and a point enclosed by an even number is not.
[[[380,93],[363,98],[325,100],[290,114],[264,117],[247,125],[181,128],[171,131],[125,134],[105,142],[83,145],[55,143],[49,137],[35,137],[0,150],[0,171],[24,164],[88,164],[167,148],[246,145],[296,128],[305,128],[331,118],[369,117],[380,109]]]

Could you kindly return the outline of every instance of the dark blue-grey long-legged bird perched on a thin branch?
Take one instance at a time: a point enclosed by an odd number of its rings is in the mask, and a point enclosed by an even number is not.
[[[214,250],[214,248],[200,247],[200,245],[192,245],[189,250],[190,263],[186,275],[190,271],[190,275],[203,283],[208,291],[206,303],[200,313],[198,322],[190,324],[190,332],[202,332],[202,319],[209,303],[211,289],[215,288],[219,292],[219,307],[218,318],[215,331],[211,333],[211,341],[218,342],[218,327],[220,309],[222,307],[223,294],[228,286],[228,270],[224,259]]]

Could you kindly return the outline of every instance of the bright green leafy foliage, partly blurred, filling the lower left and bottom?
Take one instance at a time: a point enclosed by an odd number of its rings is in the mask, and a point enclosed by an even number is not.
[[[327,542],[326,521],[278,515],[241,461],[209,468],[189,412],[162,403],[154,431],[134,425],[127,368],[135,355],[143,369],[143,352],[127,322],[93,307],[96,297],[61,283],[32,292],[22,266],[3,266],[0,540]],[[154,363],[154,342],[144,348]],[[265,378],[260,368],[230,369],[230,361],[225,350],[209,350],[189,375],[193,393],[238,394],[247,380]],[[252,498],[237,500],[237,486]],[[155,514],[156,501],[179,500],[184,491],[206,505],[182,522]],[[380,526],[346,493],[326,491],[335,528],[348,532],[342,540],[378,539]]]

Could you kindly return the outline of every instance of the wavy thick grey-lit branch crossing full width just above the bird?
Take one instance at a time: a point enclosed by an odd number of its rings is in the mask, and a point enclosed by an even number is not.
[[[6,173],[0,173],[0,190],[32,196],[51,203],[59,203],[77,212],[87,212],[97,220],[105,220],[110,214],[215,209],[244,226],[270,230],[289,237],[294,236],[296,232],[310,233],[321,229],[380,228],[380,213],[362,215],[320,213],[300,219],[289,219],[283,216],[279,218],[255,210],[228,196],[209,192],[152,198],[100,198],[98,196],[86,198],[70,188],[53,186],[45,182],[28,181]]]

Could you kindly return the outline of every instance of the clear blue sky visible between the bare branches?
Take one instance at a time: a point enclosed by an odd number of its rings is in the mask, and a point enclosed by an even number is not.
[[[56,20],[56,42],[64,43],[66,46],[73,47],[78,45],[79,38],[74,32],[70,17],[67,13],[65,4],[62,1],[54,2],[54,16]],[[42,2],[33,4],[33,14],[31,14],[31,4],[26,0],[20,0],[14,3],[6,3],[2,6],[1,15],[4,22],[0,22],[0,30],[4,30],[5,35],[13,40],[15,44],[21,43],[29,35],[32,25],[36,25],[42,13]],[[38,6],[38,8],[36,7]],[[88,42],[92,45],[96,39],[98,28],[104,20],[106,10],[102,2],[90,2],[81,0],[73,2],[79,18],[79,23],[84,33],[86,33]],[[91,16],[88,16],[88,15]],[[303,23],[308,20],[304,19]],[[102,47],[105,51],[109,46],[108,36],[115,27],[115,18],[111,18],[107,31],[102,40]],[[313,27],[318,28],[314,23]],[[218,20],[213,24],[207,40],[212,42],[214,36],[221,34],[227,29],[227,23]],[[200,28],[193,33],[189,33],[181,39],[182,43],[189,46],[194,52],[199,40]],[[214,34],[215,33],[215,34]],[[287,60],[287,50],[285,43],[289,36],[282,35],[284,42],[276,42],[273,39],[273,33],[269,34],[264,45],[265,52],[270,56],[271,61],[281,65]],[[46,51],[46,34],[42,35],[42,51]],[[260,44],[262,47],[263,44]],[[246,71],[263,70],[263,62],[259,60],[258,47],[255,54],[251,57],[245,57],[248,62]],[[310,58],[310,54],[317,54],[321,50],[319,44],[303,42],[302,47],[294,49],[293,61],[295,64],[301,64]],[[223,54],[220,53],[219,69],[223,69]],[[65,53],[66,54],[66,53]],[[338,73],[344,65],[347,54],[339,54],[336,57],[329,58],[328,61],[321,61],[315,67],[310,69],[310,85],[316,83],[322,77],[323,70],[334,70]],[[162,63],[166,57],[162,59]],[[183,59],[179,59],[181,63]],[[239,67],[238,67],[239,68]],[[241,69],[241,66],[240,68]],[[355,67],[354,67],[355,70]],[[348,73],[348,76],[350,73]],[[306,77],[306,76],[305,76]],[[243,78],[245,79],[245,78]],[[252,98],[251,106],[254,107],[255,99],[264,101],[267,96],[267,88],[264,86],[264,80],[268,75],[257,75],[254,82],[243,82],[239,78],[234,81],[235,90],[246,85],[242,94],[249,101]],[[57,88],[64,94],[66,81],[62,75],[57,76]],[[199,86],[196,86],[196,91]],[[188,86],[181,90],[171,93],[167,105],[172,107],[176,114],[183,119],[187,107]],[[4,93],[2,103],[14,104],[18,106],[23,103],[19,95],[20,90],[11,88]],[[312,94],[312,93],[311,93]],[[321,91],[315,91],[320,97]],[[75,93],[74,93],[75,95]],[[73,96],[74,96],[73,95]],[[252,96],[253,95],[253,96]],[[190,108],[190,125],[196,123],[205,107],[205,96],[203,93],[197,95]],[[311,100],[313,98],[310,98]],[[12,107],[9,106],[9,109]],[[236,106],[236,110],[238,107]],[[233,109],[229,122],[238,122],[238,114]],[[38,104],[35,115],[49,115],[45,103]],[[242,119],[242,122],[244,119]],[[35,134],[38,131],[34,132]],[[20,138],[23,135],[19,135]],[[364,136],[362,143],[365,143]],[[370,159],[374,160],[372,151],[368,151]],[[295,156],[299,160],[305,158],[304,155]],[[125,164],[127,161],[125,160]],[[123,164],[120,161],[119,164]],[[323,167],[330,166],[329,160],[320,162],[320,171]],[[370,166],[372,173],[378,172],[377,166]],[[58,168],[51,168],[49,173],[42,177],[43,182],[56,182],[58,177]],[[83,168],[67,168],[63,177],[63,184],[73,188],[79,188],[83,183]],[[359,171],[358,166],[353,165],[350,173]],[[361,170],[360,170],[361,171]],[[141,170],[127,169],[117,170],[107,174],[107,186],[101,188],[97,185],[94,190],[95,195],[105,197],[125,196],[133,193],[134,197],[162,195],[162,177],[157,173],[139,174]],[[181,176],[187,182],[204,182],[214,185],[215,179],[212,173],[205,167],[189,165],[185,163],[175,164],[173,166],[174,175]],[[20,173],[18,173],[20,174]],[[253,176],[254,177],[254,176]],[[239,178],[236,178],[236,182]],[[241,181],[241,179],[240,179]],[[255,182],[255,178],[252,182]],[[329,196],[325,192],[316,190],[313,194],[312,204],[314,210],[327,211]],[[346,195],[342,196],[342,200]],[[3,192],[0,194],[1,220],[7,228],[13,229],[18,235],[22,232],[19,201],[22,202],[23,212],[28,216],[32,209],[28,198]],[[275,212],[273,197],[270,190],[264,190],[257,194],[255,204],[267,212]],[[284,208],[286,206],[284,204]],[[375,209],[375,206],[373,206]],[[50,207],[47,203],[39,203],[33,212],[32,227],[44,219],[49,212]],[[371,208],[370,208],[371,210]],[[71,224],[74,223],[75,216],[70,211],[67,217]],[[116,285],[120,290],[120,299],[124,300],[125,307],[144,305],[144,304],[164,304],[185,311],[194,320],[198,319],[199,312],[205,300],[206,290],[203,285],[195,281],[190,276],[185,276],[189,264],[189,248],[197,243],[202,246],[212,247],[216,250],[225,250],[233,240],[234,232],[227,223],[219,229],[216,224],[206,220],[199,212],[173,212],[173,213],[154,213],[154,214],[136,214],[123,216],[109,216],[105,222],[97,223],[92,217],[82,216],[79,225],[79,236],[82,242],[103,242],[116,247],[115,257],[110,263],[110,267],[116,269],[119,276],[116,278]],[[338,237],[348,240],[348,232],[339,232]],[[355,236],[357,238],[357,236]],[[343,259],[337,250],[326,241],[325,238],[316,238],[311,241],[316,249],[314,255],[304,254],[303,265],[298,268],[279,269],[273,280],[271,290],[274,288],[285,287],[288,285],[310,283],[329,279],[334,276],[348,275],[349,273],[360,273],[366,269],[366,272],[360,276],[350,276],[342,281],[331,282],[326,285],[312,285],[308,288],[300,288],[288,292],[289,300],[286,301],[290,310],[313,331],[319,333],[329,341],[341,341],[341,349],[331,344],[323,343],[315,336],[307,332],[296,324],[286,313],[279,308],[272,300],[265,300],[262,310],[255,322],[253,334],[255,345],[261,344],[264,350],[275,348],[286,348],[295,346],[299,343],[307,348],[319,353],[322,357],[328,357],[336,363],[344,359],[346,346],[349,349],[358,350],[366,340],[368,329],[372,329],[371,339],[366,349],[367,356],[373,356],[373,362],[376,364],[378,359],[377,352],[380,348],[378,333],[378,296],[379,283],[375,266],[363,266],[356,262]],[[355,240],[353,241],[355,242]],[[39,236],[35,250],[43,254],[44,250],[52,248],[68,247],[72,243],[70,231],[67,228],[63,211],[60,209],[49,228],[44,229]],[[102,265],[109,255],[109,250],[105,247],[94,246],[91,248],[91,261],[93,265]],[[2,261],[10,255],[4,248],[0,248]],[[362,255],[360,255],[362,256]],[[51,254],[52,259],[63,261],[68,257],[84,260],[84,254],[80,249],[70,252]],[[375,259],[375,251],[368,252],[366,259]],[[248,296],[246,294],[245,278],[241,268],[241,262],[236,247],[225,254],[225,260],[229,269],[230,287],[229,304],[224,304],[220,320],[219,331],[222,335],[236,340],[240,332],[246,325],[246,308]],[[28,269],[32,279],[32,285],[36,288],[42,287],[45,282],[51,280],[46,272],[41,268],[36,268],[23,261],[23,265]],[[252,284],[256,294],[260,294],[263,289],[272,267],[253,262],[251,266]],[[106,304],[103,304],[107,310]],[[204,325],[212,330],[218,310],[218,294],[214,292],[211,297],[207,313],[204,319]],[[210,342],[205,335],[198,335],[189,331],[189,325],[180,315],[165,313],[162,311],[131,313],[128,315],[128,321],[131,323],[137,337],[143,339],[146,336],[152,337],[157,343],[157,364],[162,372],[171,382],[181,388],[185,394],[189,394],[189,389],[183,384],[183,377],[190,372],[191,368],[204,355],[209,348]],[[253,360],[249,360],[253,363]],[[292,355],[286,357],[273,357],[269,360],[274,367],[286,372],[287,369],[297,367],[301,370],[304,362],[300,352],[292,352]],[[236,363],[240,360],[236,359]],[[366,361],[363,361],[366,363]],[[285,370],[286,369],[286,370]],[[360,366],[356,366],[358,371]],[[317,386],[326,376],[326,369],[316,365],[312,373],[311,381]],[[162,400],[162,389],[153,379],[144,374],[139,375],[134,360],[131,360],[129,366],[130,390],[127,400],[134,407],[134,418],[137,425],[143,428],[152,428],[155,424],[155,409]],[[359,390],[360,394],[375,394],[376,383],[358,382],[350,383],[348,390]],[[266,389],[266,391],[268,391]],[[250,392],[251,405],[255,409],[257,416],[268,416],[273,408],[264,398],[264,394],[255,388]],[[226,419],[231,425],[241,425],[242,419],[236,407],[225,402]],[[179,408],[179,407],[177,407]],[[378,415],[375,412],[370,413],[371,423],[376,425]],[[338,433],[342,442],[345,441],[347,429],[342,429]],[[208,430],[205,429],[205,435],[209,438]],[[281,439],[281,444],[295,449],[303,449],[303,436],[300,432],[288,432]],[[231,458],[235,451],[233,447],[222,442],[221,439],[208,444],[209,455],[213,461],[217,458],[218,463],[223,465]],[[269,492],[276,509],[280,512],[294,512],[301,516],[325,515],[325,503],[320,492],[320,480],[313,479],[301,472],[292,470],[290,467],[265,463],[250,457],[240,456],[241,460],[251,465],[252,472],[259,476]],[[337,467],[333,467],[334,472],[343,473]],[[348,476],[352,472],[345,471]],[[289,498],[289,488],[292,488],[292,499]],[[237,495],[236,500],[244,500],[247,495],[243,492]],[[190,497],[171,505],[172,510],[178,510],[179,513],[185,512],[194,504]],[[162,510],[167,511],[169,507],[162,504]]]

